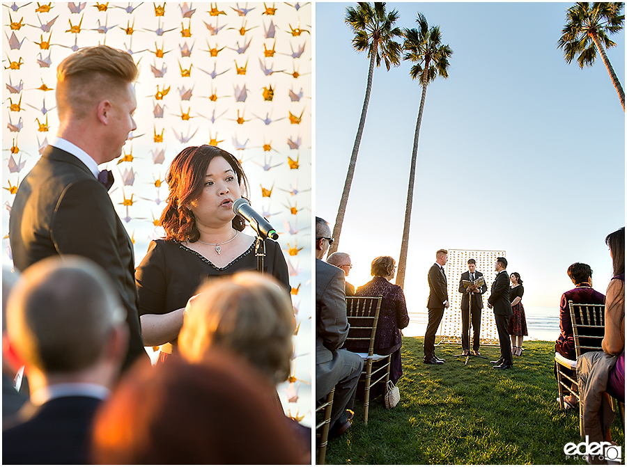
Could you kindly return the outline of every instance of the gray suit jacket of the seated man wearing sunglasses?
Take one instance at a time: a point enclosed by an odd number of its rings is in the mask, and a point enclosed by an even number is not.
[[[348,335],[344,293],[344,271],[316,258],[316,365],[331,361]]]

